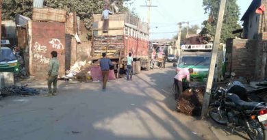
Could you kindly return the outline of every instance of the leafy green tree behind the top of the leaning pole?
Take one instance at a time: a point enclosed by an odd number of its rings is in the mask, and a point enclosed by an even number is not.
[[[240,25],[238,24],[240,8],[236,1],[237,0],[228,0],[226,3],[223,29],[220,36],[220,41],[223,43],[226,42],[227,38],[234,37],[232,31],[240,29]],[[202,29],[201,34],[215,36],[219,5],[220,1],[218,0],[203,0],[203,7],[205,13],[209,13],[209,19],[203,22],[204,28]]]

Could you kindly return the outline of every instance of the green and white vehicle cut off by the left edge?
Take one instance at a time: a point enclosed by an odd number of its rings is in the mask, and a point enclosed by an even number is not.
[[[1,40],[2,45],[8,43],[8,40]],[[14,72],[14,74],[18,74],[19,72],[16,56],[10,48],[5,46],[2,46],[0,50],[0,72]]]

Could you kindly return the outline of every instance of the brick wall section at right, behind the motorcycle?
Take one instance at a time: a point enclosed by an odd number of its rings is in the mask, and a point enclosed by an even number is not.
[[[242,76],[247,79],[253,78],[256,61],[255,46],[257,46],[257,40],[228,40],[227,72],[235,72],[236,76]]]

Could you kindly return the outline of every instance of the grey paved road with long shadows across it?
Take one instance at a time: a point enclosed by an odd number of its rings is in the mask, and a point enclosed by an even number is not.
[[[133,81],[108,82],[106,92],[101,91],[101,83],[62,83],[58,96],[5,98],[0,101],[0,139],[214,140],[218,135],[224,137],[209,122],[175,112],[175,100],[170,94],[173,74],[173,68],[142,72]]]

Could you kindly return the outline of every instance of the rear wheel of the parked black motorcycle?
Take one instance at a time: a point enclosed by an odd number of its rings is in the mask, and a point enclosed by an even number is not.
[[[266,130],[256,120],[249,122],[251,130],[246,132],[252,140],[266,140]]]

